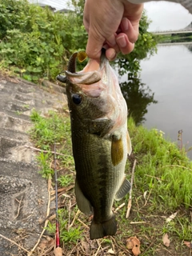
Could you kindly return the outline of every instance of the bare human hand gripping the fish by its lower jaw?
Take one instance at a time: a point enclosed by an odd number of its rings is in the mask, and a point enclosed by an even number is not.
[[[102,46],[109,60],[114,60],[119,51],[129,54],[134,50],[142,10],[142,4],[127,0],[86,0],[84,26],[89,34],[88,57],[99,59]]]

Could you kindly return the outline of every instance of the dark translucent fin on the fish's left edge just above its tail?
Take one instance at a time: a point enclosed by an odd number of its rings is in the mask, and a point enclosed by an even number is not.
[[[90,201],[86,199],[84,194],[82,194],[82,190],[78,185],[77,178],[75,180],[75,187],[74,187],[76,201],[78,204],[78,209],[82,211],[83,214],[90,215],[92,212],[92,206],[90,205]]]

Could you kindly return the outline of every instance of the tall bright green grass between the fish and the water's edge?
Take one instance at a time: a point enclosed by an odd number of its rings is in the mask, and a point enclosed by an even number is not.
[[[136,182],[144,193],[151,190],[154,209],[159,204],[166,210],[175,210],[178,206],[189,208],[192,203],[192,162],[186,152],[178,149],[174,143],[163,138],[158,130],[146,130],[143,126],[134,126],[129,120],[130,138],[133,153],[137,158]]]

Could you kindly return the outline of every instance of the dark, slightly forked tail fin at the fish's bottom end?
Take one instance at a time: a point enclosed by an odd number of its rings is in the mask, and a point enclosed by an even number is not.
[[[90,239],[103,238],[106,235],[114,235],[117,231],[117,221],[113,215],[106,222],[97,223],[94,221],[90,224]]]

